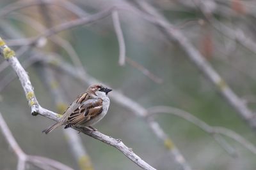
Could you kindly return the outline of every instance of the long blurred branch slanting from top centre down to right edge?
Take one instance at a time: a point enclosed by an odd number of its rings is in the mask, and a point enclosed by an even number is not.
[[[158,11],[154,9],[150,4],[145,1],[138,1],[141,8],[149,13],[157,22],[154,22],[160,31],[168,36],[172,41],[175,39],[180,48],[182,48],[187,54],[189,59],[195,63],[195,65],[202,71],[209,80],[217,87],[220,93],[227,99],[228,103],[237,110],[239,115],[248,122],[250,127],[256,128],[255,114],[248,106],[240,99],[236,93],[227,85],[211,64],[204,59],[204,57],[196,50],[196,48],[189,42],[189,40],[178,29],[173,29],[173,25],[170,24]]]

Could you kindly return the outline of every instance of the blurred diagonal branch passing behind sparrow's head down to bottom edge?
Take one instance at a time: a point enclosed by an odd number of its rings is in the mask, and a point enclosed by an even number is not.
[[[74,67],[70,66],[67,62],[63,62],[62,60],[58,59],[58,57],[56,56],[44,56],[40,57],[39,60],[42,60],[42,62],[45,62],[50,66],[55,67],[56,69],[59,69],[60,71],[69,74],[73,78],[77,78],[77,80],[81,81],[86,85],[100,82],[99,80],[93,78],[92,76],[86,73],[83,76],[80,76],[76,73]],[[143,108],[143,106],[141,106],[140,104],[130,99],[129,97],[124,96],[124,94],[121,94],[116,90],[113,90],[113,92],[109,94],[109,97],[111,97],[113,101],[120,104],[121,106],[124,106],[125,108],[131,110],[136,116],[145,118],[145,120],[147,120],[147,110]],[[188,163],[184,159],[183,155],[179,152],[179,149],[172,142],[172,139],[168,137],[168,135],[163,131],[160,125],[154,119],[151,119],[150,122],[148,122],[148,125],[152,129],[152,132],[156,134],[157,138],[163,141],[164,146],[170,151],[171,155],[173,155],[177,164],[179,164],[179,166],[181,166],[182,169],[184,170],[191,169],[191,167],[189,167]]]

